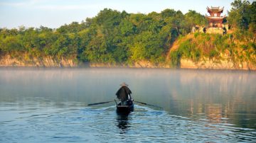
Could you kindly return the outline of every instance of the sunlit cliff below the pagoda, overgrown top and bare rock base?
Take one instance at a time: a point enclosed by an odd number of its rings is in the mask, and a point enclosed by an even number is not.
[[[174,42],[166,57],[171,67],[185,69],[256,70],[254,40],[227,35],[195,33]]]

